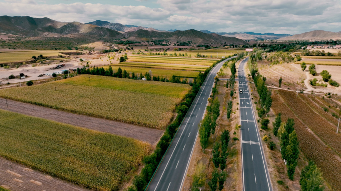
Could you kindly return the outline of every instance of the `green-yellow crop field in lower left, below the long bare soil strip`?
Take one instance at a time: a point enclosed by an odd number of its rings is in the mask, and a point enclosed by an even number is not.
[[[92,190],[119,190],[151,151],[133,138],[4,110],[0,115],[0,156]]]

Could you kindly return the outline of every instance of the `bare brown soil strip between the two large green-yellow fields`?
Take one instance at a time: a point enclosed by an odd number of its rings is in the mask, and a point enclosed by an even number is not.
[[[135,126],[131,124],[125,124],[121,122],[115,122],[111,120],[99,119],[94,117],[88,117],[84,115],[67,113],[51,108],[45,108],[37,105],[12,101],[7,99],[6,101],[0,98],[0,109],[16,112],[28,116],[34,116],[52,120],[64,124],[69,124],[78,127],[85,127],[102,132],[108,132],[116,135],[132,137],[138,140],[149,142],[152,145],[156,145],[161,138],[164,130]]]

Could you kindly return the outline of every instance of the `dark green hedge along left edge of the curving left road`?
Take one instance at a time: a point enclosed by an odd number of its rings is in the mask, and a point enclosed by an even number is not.
[[[232,56],[229,56],[228,58],[231,57]],[[168,150],[178,127],[180,127],[208,73],[216,64],[224,61],[225,59],[226,58],[223,58],[213,63],[203,73],[200,72],[198,77],[194,79],[192,89],[185,95],[184,101],[176,107],[177,116],[175,120],[166,128],[166,131],[158,142],[154,152],[143,159],[143,164],[145,166],[141,170],[141,173],[134,177],[133,185],[128,188],[128,191],[144,191],[147,189],[166,151]]]

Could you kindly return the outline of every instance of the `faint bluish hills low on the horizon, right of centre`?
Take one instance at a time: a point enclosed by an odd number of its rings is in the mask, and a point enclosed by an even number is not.
[[[243,40],[250,40],[250,39],[279,39],[282,37],[290,36],[289,34],[275,34],[275,33],[254,33],[254,32],[232,32],[232,33],[226,33],[226,32],[211,32],[208,30],[201,30],[201,32],[207,33],[207,34],[218,34],[226,37],[236,37]]]

